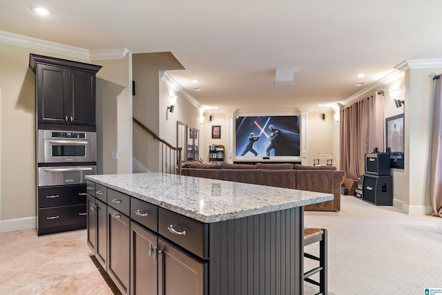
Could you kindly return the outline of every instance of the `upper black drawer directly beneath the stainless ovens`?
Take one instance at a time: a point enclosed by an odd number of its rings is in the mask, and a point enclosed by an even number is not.
[[[68,187],[39,187],[39,209],[47,207],[86,204],[84,184]]]

